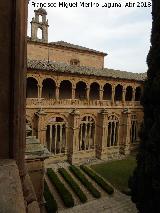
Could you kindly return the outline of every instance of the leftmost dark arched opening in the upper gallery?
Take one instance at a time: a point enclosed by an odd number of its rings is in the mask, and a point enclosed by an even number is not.
[[[27,89],[26,89],[26,97],[27,98],[38,98],[38,82],[35,78],[29,77],[27,78]]]

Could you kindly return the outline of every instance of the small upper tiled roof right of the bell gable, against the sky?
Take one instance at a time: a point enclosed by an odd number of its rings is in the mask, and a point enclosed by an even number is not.
[[[104,56],[107,55],[107,53],[100,52],[100,51],[93,50],[93,49],[89,49],[87,47],[82,47],[82,46],[79,46],[79,45],[71,44],[71,43],[68,43],[68,42],[65,42],[65,41],[50,42],[49,44],[61,46],[61,47],[69,47],[69,48],[83,50],[83,51],[94,52],[94,53],[102,54]]]

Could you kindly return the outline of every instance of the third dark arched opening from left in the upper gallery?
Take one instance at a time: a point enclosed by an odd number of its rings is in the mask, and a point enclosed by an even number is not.
[[[72,98],[72,83],[68,80],[64,80],[60,84],[59,88],[60,99],[71,99]]]

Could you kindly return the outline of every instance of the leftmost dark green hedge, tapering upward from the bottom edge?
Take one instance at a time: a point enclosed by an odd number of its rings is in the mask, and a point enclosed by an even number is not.
[[[57,210],[58,210],[57,202],[55,201],[53,195],[51,194],[46,181],[44,181],[43,196],[44,196],[45,201],[46,201],[45,207],[46,207],[47,213],[57,212]]]

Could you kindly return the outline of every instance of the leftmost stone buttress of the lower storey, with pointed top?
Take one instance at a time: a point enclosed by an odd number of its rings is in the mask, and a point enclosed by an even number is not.
[[[38,139],[42,145],[46,146],[46,127],[44,127],[46,113],[40,109],[35,114],[38,122]]]

